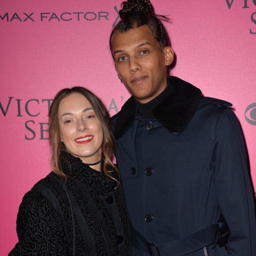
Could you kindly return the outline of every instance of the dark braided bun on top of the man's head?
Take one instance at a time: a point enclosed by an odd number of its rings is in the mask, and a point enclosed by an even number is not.
[[[149,0],[127,0],[122,3],[122,9],[119,11],[120,19],[131,13],[153,14],[153,6]]]

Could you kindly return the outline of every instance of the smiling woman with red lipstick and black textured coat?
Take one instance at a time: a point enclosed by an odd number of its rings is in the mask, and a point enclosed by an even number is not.
[[[49,110],[53,171],[19,207],[13,255],[130,254],[130,222],[109,114],[83,87],[60,90]]]

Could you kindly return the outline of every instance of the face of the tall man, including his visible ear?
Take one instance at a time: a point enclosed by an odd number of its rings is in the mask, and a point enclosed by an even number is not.
[[[147,103],[166,88],[173,50],[161,49],[147,25],[114,33],[111,45],[117,75],[138,102]]]

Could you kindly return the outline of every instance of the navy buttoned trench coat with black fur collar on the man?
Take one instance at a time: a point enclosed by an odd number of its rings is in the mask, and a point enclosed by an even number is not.
[[[164,94],[151,119],[137,113],[133,97],[113,117],[117,165],[134,229],[156,244],[161,256],[255,256],[247,154],[231,104],[202,97],[176,77],[168,78]],[[184,238],[217,223],[220,215],[230,229],[228,250],[213,248],[216,230],[183,246]],[[181,250],[173,250],[179,243]],[[152,251],[157,255],[154,246]],[[147,249],[132,247],[132,256],[146,255]]]

